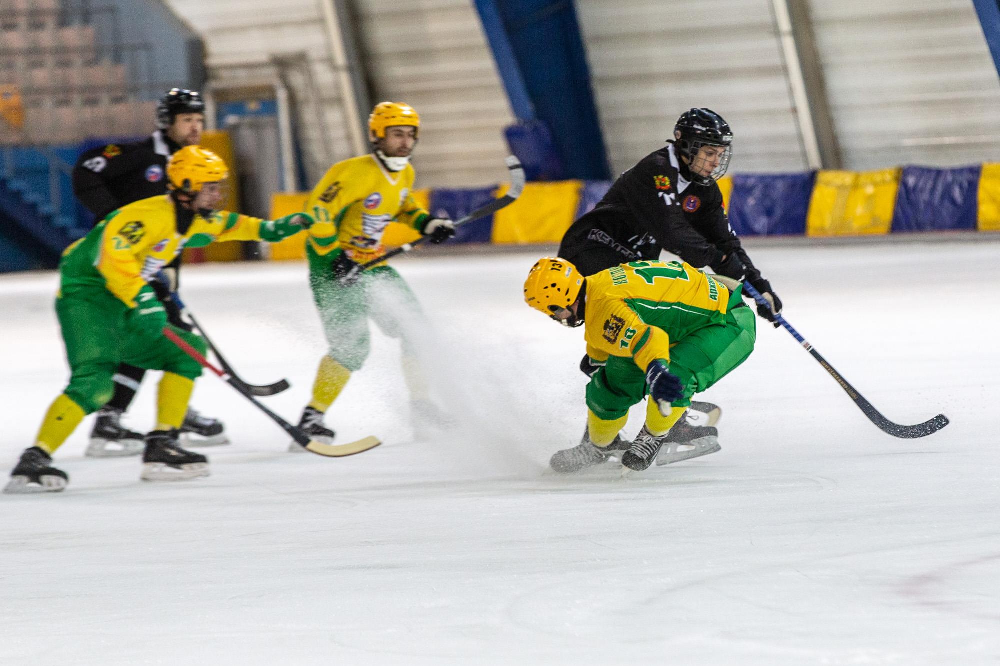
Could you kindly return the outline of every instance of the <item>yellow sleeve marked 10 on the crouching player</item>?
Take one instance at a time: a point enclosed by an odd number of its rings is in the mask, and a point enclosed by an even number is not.
[[[670,360],[667,332],[645,324],[621,299],[595,300],[587,308],[585,335],[591,358],[631,357],[643,371],[658,358]]]

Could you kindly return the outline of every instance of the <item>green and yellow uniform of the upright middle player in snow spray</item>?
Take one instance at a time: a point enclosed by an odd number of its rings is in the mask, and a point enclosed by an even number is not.
[[[363,264],[386,252],[382,236],[390,222],[423,231],[430,215],[411,196],[416,173],[407,164],[391,172],[374,155],[334,164],[313,189],[306,211],[316,218],[309,230],[306,255],[313,298],[330,345],[313,386],[310,406],[325,412],[343,390],[351,372],[368,357],[368,319],[390,337],[402,338],[404,370],[411,391],[424,390],[409,353],[402,322],[420,316],[409,286],[386,264],[366,270],[357,284],[342,287],[333,275],[341,252]],[[379,299],[387,305],[378,306]]]

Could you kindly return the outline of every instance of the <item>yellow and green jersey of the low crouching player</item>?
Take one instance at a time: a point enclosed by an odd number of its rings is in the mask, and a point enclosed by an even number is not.
[[[645,370],[670,360],[673,343],[722,323],[731,294],[725,285],[678,261],[633,261],[587,278],[584,336],[597,361],[631,357]]]

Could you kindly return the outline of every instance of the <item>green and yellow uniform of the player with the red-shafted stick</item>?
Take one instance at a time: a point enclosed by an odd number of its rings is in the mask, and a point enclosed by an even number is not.
[[[137,322],[143,308],[155,303],[146,280],[185,247],[230,240],[277,241],[299,230],[287,219],[261,220],[228,212],[205,218],[161,195],[112,212],[67,248],[59,264],[56,313],[72,374],[49,409],[38,446],[51,453],[84,415],[100,409],[111,398],[112,377],[122,362],[165,371],[158,426],[179,427],[201,366],[166,337]],[[200,336],[173,326],[171,330],[199,351],[206,350]]]

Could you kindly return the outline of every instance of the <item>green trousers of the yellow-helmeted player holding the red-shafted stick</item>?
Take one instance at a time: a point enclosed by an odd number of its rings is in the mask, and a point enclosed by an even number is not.
[[[56,299],[71,370],[65,393],[88,414],[111,399],[112,378],[120,363],[165,370],[189,379],[201,375],[201,365],[165,336],[152,336],[142,327],[133,326],[130,312],[106,289],[80,289]],[[170,328],[195,349],[206,352],[201,336],[175,326]]]

